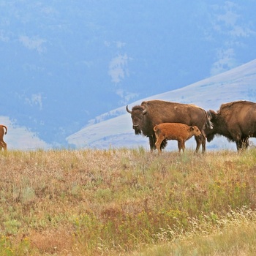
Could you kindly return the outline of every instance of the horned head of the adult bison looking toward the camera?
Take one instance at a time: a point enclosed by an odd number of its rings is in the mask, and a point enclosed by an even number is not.
[[[146,114],[147,110],[138,105],[134,106],[131,111],[127,106],[127,112],[131,114],[132,128],[135,129],[135,135],[141,134],[141,129],[143,128],[143,116]]]

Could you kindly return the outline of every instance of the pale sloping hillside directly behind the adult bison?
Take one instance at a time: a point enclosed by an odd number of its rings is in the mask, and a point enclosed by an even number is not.
[[[173,102],[193,103],[201,108],[218,110],[225,102],[239,99],[256,102],[256,59],[247,64],[223,72],[211,78],[200,80],[182,89],[167,91],[145,99],[140,99],[129,104],[139,105],[143,100],[162,99]],[[90,124],[75,134],[67,137],[69,144],[78,148],[109,148],[137,147],[149,148],[148,138],[135,135],[132,129],[132,120],[125,106],[91,120]],[[219,137],[207,148],[235,148],[234,143],[229,143],[226,138]],[[168,148],[177,148],[176,142],[170,141]],[[195,141],[189,140],[187,147],[195,147]]]

